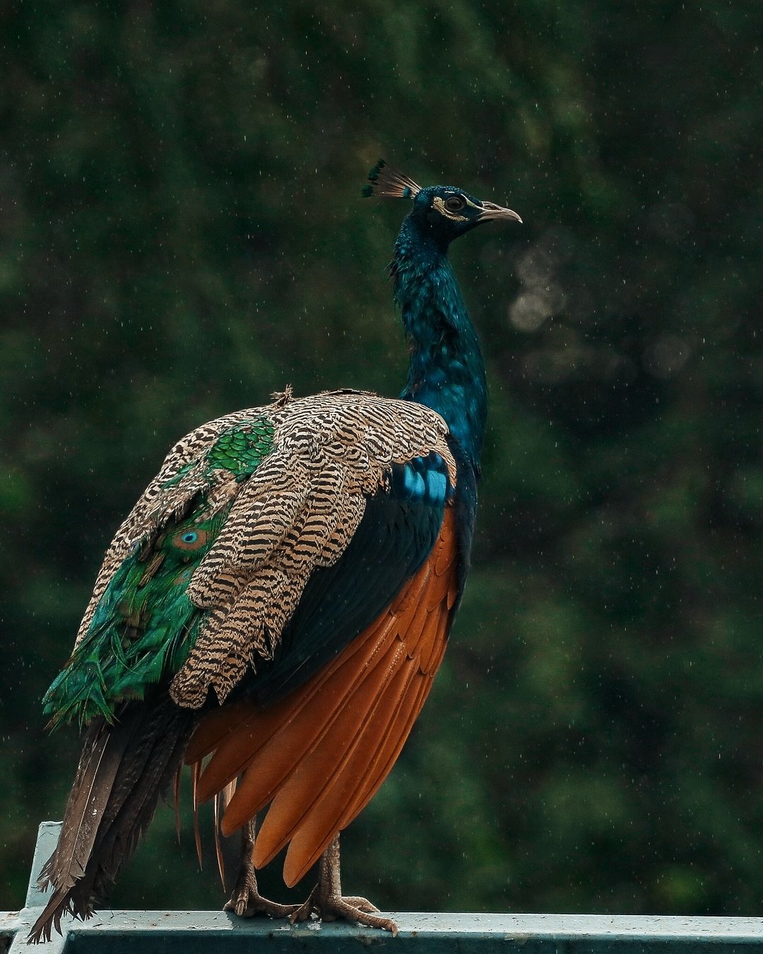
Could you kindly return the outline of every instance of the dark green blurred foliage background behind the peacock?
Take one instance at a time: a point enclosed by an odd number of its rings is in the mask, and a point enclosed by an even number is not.
[[[0,907],[73,774],[40,697],[167,448],[288,383],[399,391],[385,156],[526,224],[453,249],[474,567],[345,887],[760,914],[763,6],[277,6],[0,5]],[[160,809],[114,905],[219,906],[194,856]]]

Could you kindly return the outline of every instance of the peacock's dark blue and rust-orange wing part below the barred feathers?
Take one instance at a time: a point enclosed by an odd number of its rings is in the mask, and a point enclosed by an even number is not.
[[[458,454],[458,448],[454,446]],[[202,717],[199,800],[235,784],[222,831],[270,804],[254,861],[294,884],[391,770],[429,693],[464,583],[473,473],[437,451],[391,467],[340,559],[315,570],[274,657]]]

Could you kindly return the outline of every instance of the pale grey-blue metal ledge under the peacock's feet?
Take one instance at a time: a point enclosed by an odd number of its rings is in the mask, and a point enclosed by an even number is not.
[[[30,954],[26,935],[44,895],[36,874],[58,837],[58,822],[40,825],[27,906],[0,914],[0,951]],[[386,913],[386,912],[385,912]],[[763,918],[630,917],[559,914],[431,914],[391,912],[397,938],[346,923],[290,925],[245,921],[216,911],[100,911],[91,921],[68,920],[64,936],[53,936],[40,954],[298,954],[299,951],[354,952],[359,943],[421,954],[742,954],[763,952]],[[6,939],[5,944],[3,939]],[[12,942],[11,942],[12,939]]]

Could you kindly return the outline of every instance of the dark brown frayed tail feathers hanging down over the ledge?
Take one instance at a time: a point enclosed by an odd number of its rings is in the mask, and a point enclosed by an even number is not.
[[[61,837],[40,874],[52,885],[29,942],[50,941],[67,912],[85,920],[129,860],[151,821],[156,803],[182,762],[196,724],[195,712],[167,695],[127,703],[118,721],[93,722],[85,736],[64,812]]]

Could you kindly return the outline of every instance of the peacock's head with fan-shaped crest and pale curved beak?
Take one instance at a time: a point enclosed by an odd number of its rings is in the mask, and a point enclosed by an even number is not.
[[[431,185],[423,189],[413,179],[388,166],[383,159],[374,166],[368,178],[371,185],[363,188],[363,196],[412,199],[409,218],[421,234],[429,235],[445,246],[483,222],[497,218],[522,221],[511,209],[481,201],[457,186]]]

